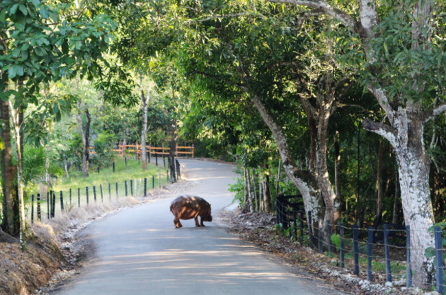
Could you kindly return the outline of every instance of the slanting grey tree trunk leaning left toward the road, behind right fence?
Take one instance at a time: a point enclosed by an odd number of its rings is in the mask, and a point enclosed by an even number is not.
[[[279,122],[274,118],[271,111],[263,105],[257,95],[253,98],[253,104],[259,111],[263,121],[268,128],[270,128],[283,161],[283,169],[302,194],[305,211],[307,213],[312,212],[314,224],[316,224],[319,217],[324,217],[324,204],[322,197],[320,196],[320,187],[316,177],[307,171],[298,169],[296,161],[294,161],[290,152],[290,147],[283,129],[279,125]]]

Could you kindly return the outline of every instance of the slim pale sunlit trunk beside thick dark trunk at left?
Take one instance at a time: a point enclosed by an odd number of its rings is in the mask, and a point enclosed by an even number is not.
[[[23,116],[20,115],[21,110],[20,109],[14,109],[12,106],[12,102],[9,101],[9,107],[10,107],[10,114],[12,118],[13,123],[13,130],[14,130],[14,139],[16,144],[16,174],[17,174],[17,201],[19,204],[19,239],[20,239],[20,245],[22,250],[26,250],[26,222],[25,222],[25,202],[23,200],[24,194],[23,194],[23,158],[22,158],[22,152],[23,152],[23,146],[21,146],[21,143],[23,143],[23,139],[21,138],[21,118],[23,119]]]

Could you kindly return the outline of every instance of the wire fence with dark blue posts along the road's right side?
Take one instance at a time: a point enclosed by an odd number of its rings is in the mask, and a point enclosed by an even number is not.
[[[308,242],[310,248],[318,252],[338,255],[341,268],[352,268],[353,273],[374,281],[375,276],[384,276],[387,282],[397,279],[406,281],[406,287],[412,286],[412,264],[410,257],[410,226],[383,224],[360,228],[357,224],[322,224],[314,220],[312,213],[305,213],[301,196],[283,196],[276,198],[277,224],[290,238],[301,243]],[[435,236],[435,283],[436,291],[443,294],[443,253],[440,227],[436,227]],[[365,269],[365,270],[364,270]]]

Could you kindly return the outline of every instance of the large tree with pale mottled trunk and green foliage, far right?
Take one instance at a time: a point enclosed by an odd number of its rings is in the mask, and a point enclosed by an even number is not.
[[[403,212],[411,226],[414,284],[425,287],[432,279],[432,259],[425,249],[434,245],[428,228],[434,224],[429,188],[430,157],[423,139],[425,124],[443,113],[445,67],[442,66],[444,39],[432,38],[440,32],[436,5],[430,0],[384,1],[382,6],[360,0],[355,11],[329,1],[270,0],[292,3],[324,12],[338,20],[360,38],[366,56],[366,79],[386,113],[388,123],[364,120],[364,129],[387,139],[398,159]],[[355,12],[358,12],[355,14]],[[355,19],[355,15],[358,19]],[[444,25],[444,24],[443,24]],[[440,82],[443,82],[441,84]]]

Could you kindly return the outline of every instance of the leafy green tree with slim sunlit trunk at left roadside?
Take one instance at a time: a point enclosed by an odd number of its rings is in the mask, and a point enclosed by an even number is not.
[[[70,3],[63,2],[51,4],[53,5],[39,0],[8,0],[0,4],[0,93],[1,99],[8,101],[10,117],[14,123],[12,129],[16,145],[18,187],[16,202],[19,204],[19,235],[23,250],[26,247],[21,179],[23,111],[30,103],[38,105],[36,93],[42,83],[59,80],[76,72],[92,77],[93,72],[99,68],[96,60],[101,58],[108,46],[108,32],[114,27],[113,21],[104,14],[73,13],[79,7],[73,9]],[[13,88],[10,88],[10,82],[14,83]],[[58,110],[55,111],[59,113]],[[3,137],[3,140],[5,138],[8,137]],[[5,141],[5,145],[10,144]],[[8,171],[10,167],[4,169]],[[5,196],[5,200],[10,200],[10,196]],[[9,202],[5,206],[10,206]],[[6,212],[12,213],[10,208]]]

